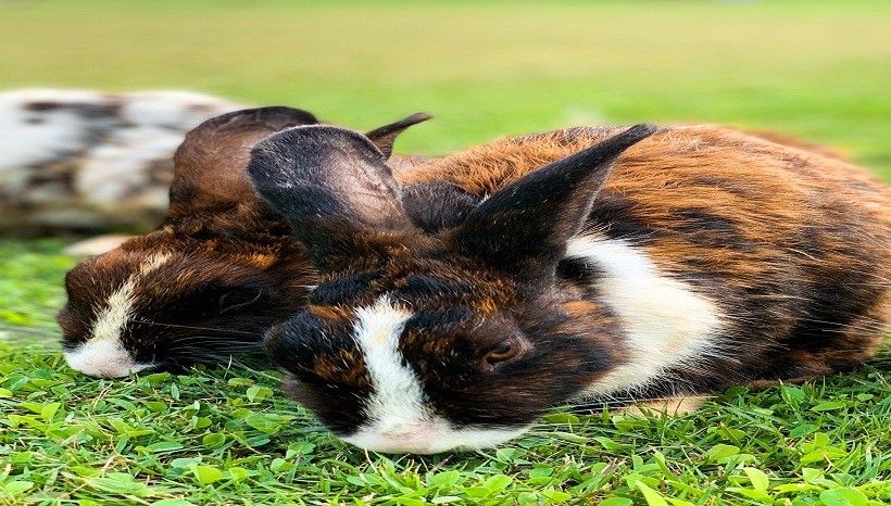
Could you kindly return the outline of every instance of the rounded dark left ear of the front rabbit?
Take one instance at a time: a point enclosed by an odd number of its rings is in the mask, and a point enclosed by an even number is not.
[[[357,237],[413,229],[386,161],[362,134],[309,126],[256,144],[248,174],[323,267]]]

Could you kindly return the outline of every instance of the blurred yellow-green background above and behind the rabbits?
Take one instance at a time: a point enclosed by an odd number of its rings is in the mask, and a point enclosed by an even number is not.
[[[0,91],[178,89],[443,154],[578,124],[707,122],[891,180],[891,2],[0,0]]]

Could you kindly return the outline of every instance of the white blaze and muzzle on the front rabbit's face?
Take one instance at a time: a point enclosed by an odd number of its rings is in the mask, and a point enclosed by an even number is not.
[[[400,336],[411,317],[411,312],[387,296],[356,311],[353,339],[374,392],[365,402],[368,421],[344,441],[377,452],[431,454],[494,446],[526,430],[455,429],[437,416],[425,402],[421,380],[399,351]]]

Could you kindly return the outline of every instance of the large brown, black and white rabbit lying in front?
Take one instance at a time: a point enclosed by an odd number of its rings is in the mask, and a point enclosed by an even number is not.
[[[385,453],[495,446],[567,403],[856,367],[891,319],[891,192],[714,126],[498,140],[397,180],[303,126],[248,174],[317,269],[268,330],[284,391]]]

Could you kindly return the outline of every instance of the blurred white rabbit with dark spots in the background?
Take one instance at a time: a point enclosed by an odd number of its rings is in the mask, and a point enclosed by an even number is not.
[[[184,91],[0,93],[0,232],[151,230],[186,132],[243,107]]]

